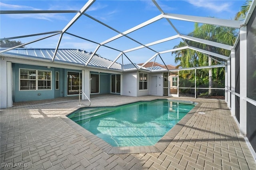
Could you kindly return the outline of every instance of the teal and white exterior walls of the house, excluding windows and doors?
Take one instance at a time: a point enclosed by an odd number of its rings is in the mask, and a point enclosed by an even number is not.
[[[120,72],[100,68],[71,65],[69,63],[55,63],[41,59],[26,59],[16,56],[1,55],[0,61],[0,106],[1,108],[12,107],[12,102],[33,101],[43,99],[54,99],[58,97],[68,97],[68,71],[82,74],[82,91],[90,98],[90,73],[100,74],[100,94],[110,93],[111,74],[121,75],[120,95],[144,96],[150,95],[150,76],[158,76],[157,93],[163,94],[162,73],[148,74],[148,88],[139,90],[139,71]],[[20,69],[34,69],[51,71],[51,89],[44,90],[20,90]],[[59,89],[56,89],[55,75],[59,73]],[[9,88],[8,88],[9,87]],[[40,93],[40,95],[39,95]],[[82,95],[82,99],[85,97]]]

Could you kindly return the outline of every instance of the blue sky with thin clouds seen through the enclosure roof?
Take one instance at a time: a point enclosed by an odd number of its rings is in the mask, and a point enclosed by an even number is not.
[[[87,1],[84,0],[1,0],[0,10],[80,10]],[[215,17],[221,19],[232,20],[244,4],[244,0],[164,0],[156,1],[165,13],[184,14],[203,17]],[[158,16],[160,11],[151,0],[96,0],[94,4],[86,11],[86,14],[108,24],[112,28],[120,32],[124,32],[146,20]],[[70,14],[1,14],[0,18],[0,37],[8,38],[14,36],[23,36],[28,34],[37,34],[62,30],[66,24],[75,16]],[[174,26],[181,34],[188,34],[193,31],[194,23],[171,20]],[[87,16],[81,16],[79,20],[67,30],[71,34],[84,37],[86,39],[101,43],[108,40],[118,33],[106,28],[105,26],[95,22]],[[170,26],[166,19],[158,20],[144,28],[128,34],[131,38],[140,43],[150,43],[156,40],[176,35],[174,29]],[[36,40],[42,36],[20,38],[23,43]],[[59,39],[54,36],[40,42],[35,42],[26,47],[32,48],[55,48]],[[175,45],[182,41],[175,39],[150,48],[155,51],[165,51],[172,49]],[[119,50],[126,50],[132,47],[140,46],[140,44],[122,37],[106,45]],[[86,51],[94,51],[97,44],[91,43],[79,38],[64,34],[60,48],[75,48]],[[115,59],[120,53],[113,49],[100,47],[97,51],[102,57]],[[132,51],[126,55],[134,63],[144,63],[148,58],[155,54],[154,51],[143,48]],[[171,53],[162,54],[166,64],[176,65],[174,56]],[[162,63],[159,57],[157,62]],[[121,58],[118,62],[122,63]],[[124,57],[124,63],[129,63]]]

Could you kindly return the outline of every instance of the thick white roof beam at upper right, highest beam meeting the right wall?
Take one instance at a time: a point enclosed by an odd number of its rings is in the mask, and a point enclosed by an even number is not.
[[[174,20],[198,22],[203,24],[212,24],[212,25],[231,27],[231,28],[240,28],[240,26],[242,25],[242,22],[237,20],[224,20],[224,19],[218,19],[218,18],[189,16],[189,15],[182,15],[182,14],[163,14],[163,15],[164,15],[164,18],[170,18]]]

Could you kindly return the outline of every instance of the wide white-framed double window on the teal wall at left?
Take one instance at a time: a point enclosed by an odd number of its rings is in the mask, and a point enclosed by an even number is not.
[[[20,69],[20,90],[52,89],[52,72]]]

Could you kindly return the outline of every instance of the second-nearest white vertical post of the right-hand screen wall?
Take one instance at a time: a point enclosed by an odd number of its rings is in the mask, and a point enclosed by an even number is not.
[[[236,75],[235,75],[235,49],[231,50],[231,59],[230,59],[230,69],[231,69],[231,116],[235,116],[235,109],[236,109],[236,95],[235,87],[236,87]]]

